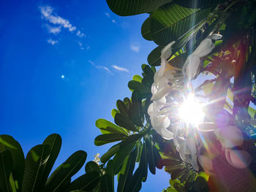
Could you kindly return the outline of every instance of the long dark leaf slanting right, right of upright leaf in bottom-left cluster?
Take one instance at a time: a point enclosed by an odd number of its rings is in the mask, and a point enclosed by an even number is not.
[[[70,178],[76,174],[86,161],[87,153],[78,150],[61,164],[49,177],[45,188],[48,191],[61,191]]]

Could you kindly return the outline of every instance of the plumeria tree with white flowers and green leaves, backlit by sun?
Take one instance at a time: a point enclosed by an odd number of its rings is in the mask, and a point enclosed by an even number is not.
[[[117,191],[140,191],[163,167],[165,191],[254,191],[256,1],[107,2],[117,15],[147,13],[142,36],[158,45],[115,124],[96,122],[95,145],[120,141],[100,157]]]

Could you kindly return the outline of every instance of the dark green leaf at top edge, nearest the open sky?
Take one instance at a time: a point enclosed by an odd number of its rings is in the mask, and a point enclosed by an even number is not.
[[[107,0],[108,7],[117,15],[137,15],[145,12],[153,12],[171,0]]]

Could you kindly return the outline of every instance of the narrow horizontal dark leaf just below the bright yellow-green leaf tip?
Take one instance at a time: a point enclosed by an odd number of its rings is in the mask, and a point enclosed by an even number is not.
[[[127,138],[124,134],[101,134],[94,139],[96,146],[105,145],[110,142],[117,142]]]

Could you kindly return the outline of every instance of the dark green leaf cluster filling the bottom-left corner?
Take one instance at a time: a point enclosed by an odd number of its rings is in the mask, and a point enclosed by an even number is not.
[[[83,150],[70,155],[50,174],[60,149],[61,137],[51,134],[41,145],[32,147],[24,158],[20,144],[13,137],[0,135],[0,191],[91,191],[102,185],[99,182],[102,183],[108,171],[99,169],[93,161],[86,164],[86,174],[71,182],[86,161]]]

